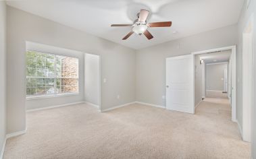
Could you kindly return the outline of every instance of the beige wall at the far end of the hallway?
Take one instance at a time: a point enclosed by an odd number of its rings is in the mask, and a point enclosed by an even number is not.
[[[206,65],[206,90],[224,91],[225,68],[228,68],[228,63],[216,63]]]

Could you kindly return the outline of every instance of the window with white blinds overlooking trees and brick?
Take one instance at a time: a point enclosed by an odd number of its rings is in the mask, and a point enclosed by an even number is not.
[[[57,96],[78,93],[78,59],[26,52],[26,96]]]

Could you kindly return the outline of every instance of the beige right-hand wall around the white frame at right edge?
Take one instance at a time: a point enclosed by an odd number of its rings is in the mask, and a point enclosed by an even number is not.
[[[246,2],[246,1],[245,1]],[[245,4],[244,7],[242,8],[240,18],[238,21],[238,46],[237,46],[237,54],[236,54],[236,79],[237,79],[237,87],[236,87],[236,118],[240,126],[242,127],[242,32],[245,29],[245,26],[247,25],[247,22],[249,21],[249,18],[251,17],[252,13],[254,13],[254,53],[253,55],[256,55],[256,1],[251,0],[249,7]],[[254,56],[254,61],[256,61],[256,56]],[[256,92],[256,67],[254,65],[253,68],[253,73],[254,73],[254,88],[253,92]],[[255,103],[256,103],[256,94],[254,94],[253,98],[253,113],[252,113],[252,124],[253,124],[253,129],[252,129],[252,145],[251,145],[251,150],[252,150],[252,158],[256,158],[256,108],[255,108]]]

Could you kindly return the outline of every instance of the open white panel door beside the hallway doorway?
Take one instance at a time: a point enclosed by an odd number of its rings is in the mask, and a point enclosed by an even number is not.
[[[193,55],[166,59],[166,108],[195,113]]]

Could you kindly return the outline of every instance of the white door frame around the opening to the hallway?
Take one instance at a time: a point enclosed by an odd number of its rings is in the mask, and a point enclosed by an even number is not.
[[[194,103],[194,109],[195,109],[195,55],[205,54],[205,53],[214,53],[217,51],[227,51],[231,50],[231,56],[232,59],[232,88],[234,93],[232,94],[232,121],[236,122],[236,45],[233,46],[226,46],[222,48],[216,48],[216,49],[209,49],[205,51],[197,51],[191,53],[193,55],[193,103]],[[195,111],[195,110],[194,110]]]

